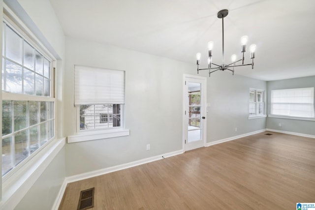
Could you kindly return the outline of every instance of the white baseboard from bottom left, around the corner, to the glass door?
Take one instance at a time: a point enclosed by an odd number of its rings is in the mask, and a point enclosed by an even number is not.
[[[63,199],[63,193],[64,193],[66,185],[68,183],[71,183],[74,181],[79,181],[79,180],[85,180],[85,179],[89,179],[92,177],[97,177],[97,176],[108,174],[111,172],[115,172],[115,171],[123,170],[126,168],[131,168],[134,166],[138,166],[138,165],[142,165],[145,163],[150,163],[150,162],[153,162],[156,160],[160,160],[160,159],[163,159],[163,157],[167,158],[167,157],[171,157],[171,156],[175,156],[175,155],[183,154],[183,153],[184,153],[184,150],[172,151],[172,152],[168,152],[165,154],[160,154],[160,155],[156,155],[153,157],[148,157],[148,158],[136,160],[133,162],[129,162],[129,163],[125,163],[125,164],[121,164],[121,165],[117,165],[117,166],[112,166],[112,167],[103,168],[103,169],[99,169],[99,170],[95,170],[95,171],[91,171],[91,172],[87,172],[87,173],[83,173],[83,174],[78,174],[78,175],[66,177],[63,181],[63,185],[61,186],[61,188],[59,190],[58,197],[56,198],[56,201],[54,203],[52,210],[58,210],[60,203]]]

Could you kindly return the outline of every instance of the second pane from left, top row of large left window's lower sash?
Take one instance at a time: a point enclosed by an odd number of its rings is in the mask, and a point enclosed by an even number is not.
[[[14,131],[26,128],[26,101],[14,101]]]

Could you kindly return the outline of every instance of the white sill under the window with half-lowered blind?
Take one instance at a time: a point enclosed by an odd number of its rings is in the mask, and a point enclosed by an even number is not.
[[[114,138],[120,136],[129,136],[128,129],[109,129],[102,131],[89,131],[84,133],[79,133],[77,135],[68,136],[67,143],[75,143],[75,142],[84,142],[84,141],[93,141],[97,139],[107,139]]]

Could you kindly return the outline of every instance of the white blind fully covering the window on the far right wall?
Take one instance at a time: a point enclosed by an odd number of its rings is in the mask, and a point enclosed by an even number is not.
[[[314,88],[271,90],[271,114],[314,118]]]

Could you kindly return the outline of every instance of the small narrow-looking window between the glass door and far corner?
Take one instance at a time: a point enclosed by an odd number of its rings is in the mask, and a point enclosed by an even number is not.
[[[264,90],[250,89],[250,117],[264,116]]]

